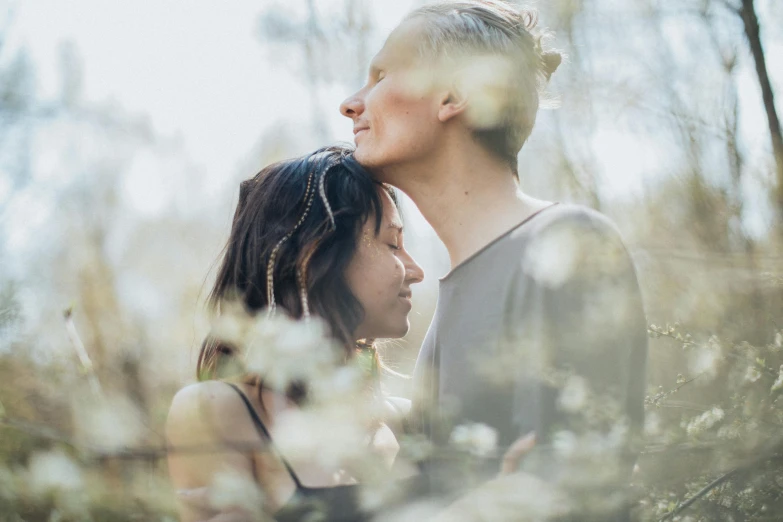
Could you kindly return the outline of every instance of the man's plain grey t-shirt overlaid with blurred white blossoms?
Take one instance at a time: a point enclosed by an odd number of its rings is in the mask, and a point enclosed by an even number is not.
[[[497,455],[535,431],[550,456],[534,472],[553,480],[570,472],[556,455],[568,440],[581,447],[585,433],[614,437],[608,451],[627,464],[646,353],[639,285],[617,229],[589,208],[553,205],[441,279],[414,370],[412,425],[436,448],[456,426],[488,425]],[[453,479],[436,473],[436,460],[424,468],[433,480]]]

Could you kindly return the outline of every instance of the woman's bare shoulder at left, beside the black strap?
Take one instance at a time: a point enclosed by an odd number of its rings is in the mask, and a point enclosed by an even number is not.
[[[248,440],[254,432],[242,397],[222,381],[202,381],[180,389],[166,420],[166,437],[175,443]]]

